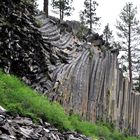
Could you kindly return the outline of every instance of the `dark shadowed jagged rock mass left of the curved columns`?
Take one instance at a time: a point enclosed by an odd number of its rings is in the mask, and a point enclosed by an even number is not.
[[[35,27],[33,3],[27,0],[0,2],[0,67],[29,85],[39,83],[40,77],[47,77],[43,41]]]

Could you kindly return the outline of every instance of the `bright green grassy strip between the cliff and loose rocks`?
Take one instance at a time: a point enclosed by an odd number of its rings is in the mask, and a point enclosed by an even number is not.
[[[138,140],[127,137],[106,125],[91,124],[82,121],[76,115],[69,116],[58,103],[51,103],[47,97],[41,96],[27,87],[14,76],[3,74],[0,71],[0,105],[13,114],[32,117],[34,120],[41,117],[56,126],[59,130],[75,130],[91,137],[104,137],[106,140]]]

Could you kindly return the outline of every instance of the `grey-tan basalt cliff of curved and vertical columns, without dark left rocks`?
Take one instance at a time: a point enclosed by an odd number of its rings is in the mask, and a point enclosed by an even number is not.
[[[102,41],[78,42],[71,33],[60,34],[52,20],[38,16],[44,43],[53,50],[49,65],[54,85],[49,92],[67,112],[90,121],[113,122],[121,131],[140,134],[140,95],[131,92],[129,80],[119,69],[117,49],[105,50]],[[98,43],[99,42],[99,43]],[[53,68],[53,70],[51,70]]]

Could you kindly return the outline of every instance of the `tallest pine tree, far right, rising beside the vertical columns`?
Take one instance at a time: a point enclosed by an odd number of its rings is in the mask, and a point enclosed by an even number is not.
[[[137,8],[133,8],[132,3],[126,3],[120,13],[120,19],[117,21],[117,35],[121,39],[122,51],[124,58],[128,63],[129,79],[133,83],[133,62],[137,54],[137,47],[140,38],[139,21],[136,19]]]

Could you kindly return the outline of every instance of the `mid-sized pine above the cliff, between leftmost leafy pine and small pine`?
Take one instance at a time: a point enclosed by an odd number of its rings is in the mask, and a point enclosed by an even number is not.
[[[90,30],[92,31],[92,25],[98,24],[99,17],[96,16],[96,7],[98,3],[94,0],[85,0],[84,7],[85,9],[81,11],[80,18],[83,20],[85,24],[90,26]]]

